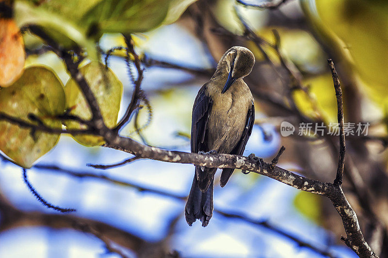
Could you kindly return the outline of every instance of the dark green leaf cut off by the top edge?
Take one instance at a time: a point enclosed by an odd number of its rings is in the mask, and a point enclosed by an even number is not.
[[[171,0],[103,0],[83,17],[101,33],[145,32],[159,26]]]

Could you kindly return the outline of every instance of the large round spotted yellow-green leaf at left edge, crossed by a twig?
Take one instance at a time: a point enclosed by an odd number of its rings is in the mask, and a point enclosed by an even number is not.
[[[10,87],[0,90],[0,110],[13,117],[28,120],[32,113],[52,128],[62,128],[53,116],[63,114],[65,93],[58,77],[44,66],[26,69],[23,75]],[[0,121],[0,150],[21,167],[32,164],[58,142],[59,134],[20,128],[7,121]]]

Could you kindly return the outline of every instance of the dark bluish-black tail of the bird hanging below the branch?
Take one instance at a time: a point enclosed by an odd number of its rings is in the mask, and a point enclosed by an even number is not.
[[[213,188],[214,176],[208,190],[203,193],[199,189],[197,177],[194,175],[193,184],[185,207],[185,217],[189,226],[192,226],[196,219],[202,222],[202,227],[208,226],[209,220],[213,215]]]

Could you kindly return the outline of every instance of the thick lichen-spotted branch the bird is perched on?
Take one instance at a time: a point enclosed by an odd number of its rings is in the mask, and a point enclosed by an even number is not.
[[[194,164],[202,167],[228,167],[248,170],[273,178],[296,189],[329,197],[342,218],[345,232],[350,243],[354,246],[353,250],[356,254],[359,257],[377,257],[368,243],[366,243],[358,225],[356,213],[350,206],[339,185],[308,179],[277,166],[272,169],[272,164],[266,162],[263,162],[261,169],[258,158],[250,159],[248,157],[230,154],[202,155],[188,152],[166,151],[142,145],[139,142],[125,137],[116,137],[114,144],[107,143],[104,146],[129,152],[142,158],[165,162]]]

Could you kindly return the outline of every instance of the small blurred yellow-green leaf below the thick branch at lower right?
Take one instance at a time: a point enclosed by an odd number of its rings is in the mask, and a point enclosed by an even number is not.
[[[304,216],[318,225],[321,224],[322,208],[319,196],[300,191],[294,198],[294,206]]]

